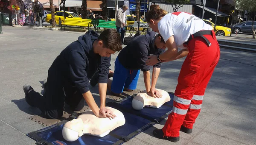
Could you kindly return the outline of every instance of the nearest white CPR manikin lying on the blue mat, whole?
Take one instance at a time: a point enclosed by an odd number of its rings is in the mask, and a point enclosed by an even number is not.
[[[113,129],[125,124],[125,117],[122,112],[111,107],[106,108],[116,115],[114,119],[96,117],[92,111],[84,112],[77,119],[73,119],[63,126],[63,138],[73,142],[84,134],[104,137]]]

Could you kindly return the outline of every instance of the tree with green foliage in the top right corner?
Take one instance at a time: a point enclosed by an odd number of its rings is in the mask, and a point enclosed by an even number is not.
[[[247,11],[248,17],[252,21],[252,32],[253,32],[253,39],[256,39],[256,29],[254,30],[253,24],[256,18],[256,2],[255,0],[237,0],[238,8]],[[251,17],[254,15],[254,17]]]

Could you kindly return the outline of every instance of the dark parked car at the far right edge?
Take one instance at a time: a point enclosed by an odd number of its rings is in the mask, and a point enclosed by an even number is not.
[[[231,26],[230,26],[231,27]],[[253,24],[253,28],[256,28],[256,22]],[[240,24],[233,25],[232,33],[253,33],[252,32],[252,21],[244,21]]]

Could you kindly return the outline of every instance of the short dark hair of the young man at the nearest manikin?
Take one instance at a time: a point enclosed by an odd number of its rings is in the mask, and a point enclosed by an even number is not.
[[[103,41],[103,47],[109,48],[115,52],[122,50],[121,36],[116,29],[104,30],[99,35],[98,39]]]

